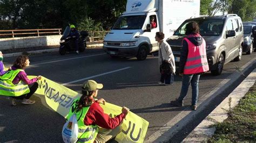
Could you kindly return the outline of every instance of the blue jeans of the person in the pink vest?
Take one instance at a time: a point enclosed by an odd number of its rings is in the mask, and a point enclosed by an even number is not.
[[[188,87],[191,83],[192,87],[192,102],[191,105],[197,105],[198,99],[198,82],[199,82],[200,75],[183,75],[182,78],[182,87],[180,91],[180,96],[178,98],[179,102],[183,102],[184,98],[187,95]]]

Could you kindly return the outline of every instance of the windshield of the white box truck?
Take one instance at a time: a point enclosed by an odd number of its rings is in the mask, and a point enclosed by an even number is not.
[[[136,30],[141,29],[146,16],[123,16],[119,17],[113,30]]]

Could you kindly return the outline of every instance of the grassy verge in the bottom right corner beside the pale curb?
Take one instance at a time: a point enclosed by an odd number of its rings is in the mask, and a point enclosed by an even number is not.
[[[216,131],[209,142],[256,142],[256,84],[229,111],[229,117],[214,126]]]

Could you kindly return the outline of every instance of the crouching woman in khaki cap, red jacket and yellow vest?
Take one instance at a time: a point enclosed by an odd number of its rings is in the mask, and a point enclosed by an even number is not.
[[[103,84],[93,80],[84,82],[82,85],[83,95],[75,99],[71,105],[67,120],[75,114],[78,120],[78,130],[82,131],[78,133],[77,142],[106,142],[122,131],[119,125],[129,109],[124,107],[120,115],[110,118],[99,105],[105,104],[105,100],[103,98],[93,99],[97,97],[98,90],[102,88]]]

